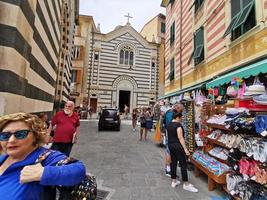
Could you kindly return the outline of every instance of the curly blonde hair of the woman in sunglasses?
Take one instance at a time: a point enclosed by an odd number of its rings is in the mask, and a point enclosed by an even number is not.
[[[41,146],[44,143],[46,135],[46,124],[37,116],[27,113],[14,113],[0,117],[0,131],[2,131],[11,122],[24,122],[33,133],[35,142],[33,145]]]

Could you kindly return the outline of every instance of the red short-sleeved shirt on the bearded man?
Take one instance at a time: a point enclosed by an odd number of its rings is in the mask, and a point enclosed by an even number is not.
[[[70,143],[72,142],[73,134],[80,126],[80,120],[76,113],[68,116],[64,111],[59,111],[52,119],[52,126],[56,125],[54,133],[54,142]]]

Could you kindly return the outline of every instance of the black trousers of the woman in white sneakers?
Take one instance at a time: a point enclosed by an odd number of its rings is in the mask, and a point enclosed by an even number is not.
[[[187,174],[187,162],[184,149],[179,144],[168,144],[171,153],[171,178],[177,177],[177,161],[179,161],[181,167],[182,180],[188,181]]]

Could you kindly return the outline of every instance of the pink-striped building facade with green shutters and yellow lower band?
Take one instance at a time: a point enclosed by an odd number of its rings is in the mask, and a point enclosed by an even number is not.
[[[164,97],[267,55],[267,0],[162,0],[161,6],[166,8]]]

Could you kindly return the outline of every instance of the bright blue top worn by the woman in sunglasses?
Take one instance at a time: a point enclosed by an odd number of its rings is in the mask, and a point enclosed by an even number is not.
[[[21,184],[20,172],[26,165],[35,164],[40,154],[47,149],[40,147],[29,154],[24,160],[10,165],[0,175],[0,200],[38,200],[41,199],[42,186],[63,185],[72,186],[80,183],[85,177],[85,166],[77,161],[68,165],[56,167],[58,161],[66,158],[66,155],[53,151],[42,162],[44,172],[40,181]],[[8,158],[8,155],[0,156],[0,165]]]

